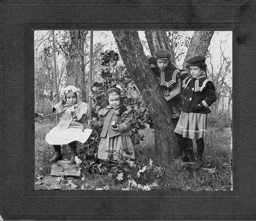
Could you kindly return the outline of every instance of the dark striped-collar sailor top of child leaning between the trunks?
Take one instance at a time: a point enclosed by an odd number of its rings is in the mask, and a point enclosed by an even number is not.
[[[154,72],[156,78],[160,83],[160,86],[162,86],[165,90],[166,89],[171,90],[173,88],[173,86],[177,83],[178,76],[180,76],[182,80],[188,76],[188,74],[184,70],[179,71],[172,64],[171,65],[168,64],[166,69],[162,71],[159,69],[159,67],[157,67],[156,58],[148,55],[147,59],[152,71]]]

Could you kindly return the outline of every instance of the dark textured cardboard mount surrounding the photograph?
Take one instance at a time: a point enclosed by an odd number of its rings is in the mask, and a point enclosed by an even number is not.
[[[6,15],[4,22],[1,23],[4,26],[2,32],[4,37],[0,42],[0,46],[4,49],[1,55],[5,58],[0,60],[0,70],[4,73],[0,84],[6,97],[1,103],[4,110],[1,127],[4,131],[1,131],[3,148],[0,150],[0,178],[2,178],[0,214],[4,220],[253,220],[256,218],[254,211],[256,191],[253,186],[255,153],[251,153],[255,141],[250,140],[252,138],[250,132],[253,133],[255,127],[252,113],[255,105],[252,103],[247,105],[253,100],[249,95],[255,94],[253,91],[255,89],[253,81],[245,77],[245,72],[247,76],[253,76],[249,73],[248,66],[252,67],[249,64],[254,63],[255,60],[255,48],[252,44],[255,43],[255,39],[251,39],[253,35],[250,35],[253,30],[255,31],[255,24],[253,24],[253,15],[247,17],[243,15],[254,12],[253,5],[245,7],[231,4],[222,8],[216,5],[202,8],[201,4],[173,5],[177,11],[171,8],[172,5],[168,7],[163,7],[161,4],[154,5],[156,11],[163,11],[164,14],[172,12],[173,17],[164,15],[165,19],[155,17],[150,9],[151,5],[137,8],[130,5],[134,17],[129,20],[129,12],[125,11],[126,5],[112,5],[113,11],[120,11],[119,15],[115,15],[109,10],[109,5],[104,9],[103,6],[90,4],[74,3],[67,7],[63,3],[43,7],[33,5],[30,1],[24,1],[30,5],[19,1],[16,5],[6,2],[5,5],[0,2],[1,10]],[[81,8],[90,9],[87,17],[81,14]],[[94,19],[93,12],[96,9],[101,13],[97,19]],[[185,14],[181,12],[183,10],[205,13],[202,17],[187,16],[181,22],[180,16]],[[72,16],[72,13],[77,11],[79,11],[78,16]],[[134,14],[134,11],[137,14]],[[229,11],[236,14],[225,15],[225,12]],[[119,16],[118,22],[116,16]],[[251,27],[251,30],[248,27]],[[35,190],[34,30],[232,31],[233,191]],[[13,105],[12,109],[9,108],[9,103]]]

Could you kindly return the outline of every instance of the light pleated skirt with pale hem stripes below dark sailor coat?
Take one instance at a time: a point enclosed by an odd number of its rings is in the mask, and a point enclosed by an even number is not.
[[[174,132],[189,139],[205,138],[207,134],[207,114],[182,111]]]

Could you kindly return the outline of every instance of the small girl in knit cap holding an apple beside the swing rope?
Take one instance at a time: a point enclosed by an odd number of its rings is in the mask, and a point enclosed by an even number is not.
[[[125,94],[118,85],[112,85],[107,91],[109,105],[99,111],[99,121],[91,122],[94,128],[102,127],[101,142],[98,148],[99,159],[116,160],[121,150],[126,151],[126,157],[134,159],[134,149],[131,143],[129,127],[131,127],[133,112],[123,104]],[[116,153],[116,154],[115,154]]]

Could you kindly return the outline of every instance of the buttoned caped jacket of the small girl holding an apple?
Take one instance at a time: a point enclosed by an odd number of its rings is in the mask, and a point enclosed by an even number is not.
[[[131,135],[129,127],[131,127],[133,113],[131,108],[127,108],[126,111],[120,113],[120,107],[112,108],[110,105],[98,112],[98,115],[102,116],[99,121],[94,122],[94,128],[102,127],[101,137],[115,137],[117,135],[129,136]],[[119,115],[121,114],[121,116]],[[116,121],[119,125],[119,131],[113,130],[111,123]]]

